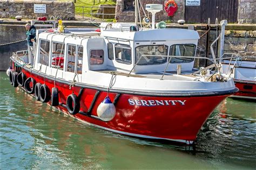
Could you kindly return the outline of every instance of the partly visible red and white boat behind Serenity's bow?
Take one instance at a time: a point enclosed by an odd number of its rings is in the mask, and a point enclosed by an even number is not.
[[[253,56],[232,55],[231,58],[221,59],[221,68],[223,72],[231,75],[235,86],[239,89],[237,93],[230,96],[232,98],[244,98],[256,100],[256,60]],[[236,56],[234,60],[233,56]]]

